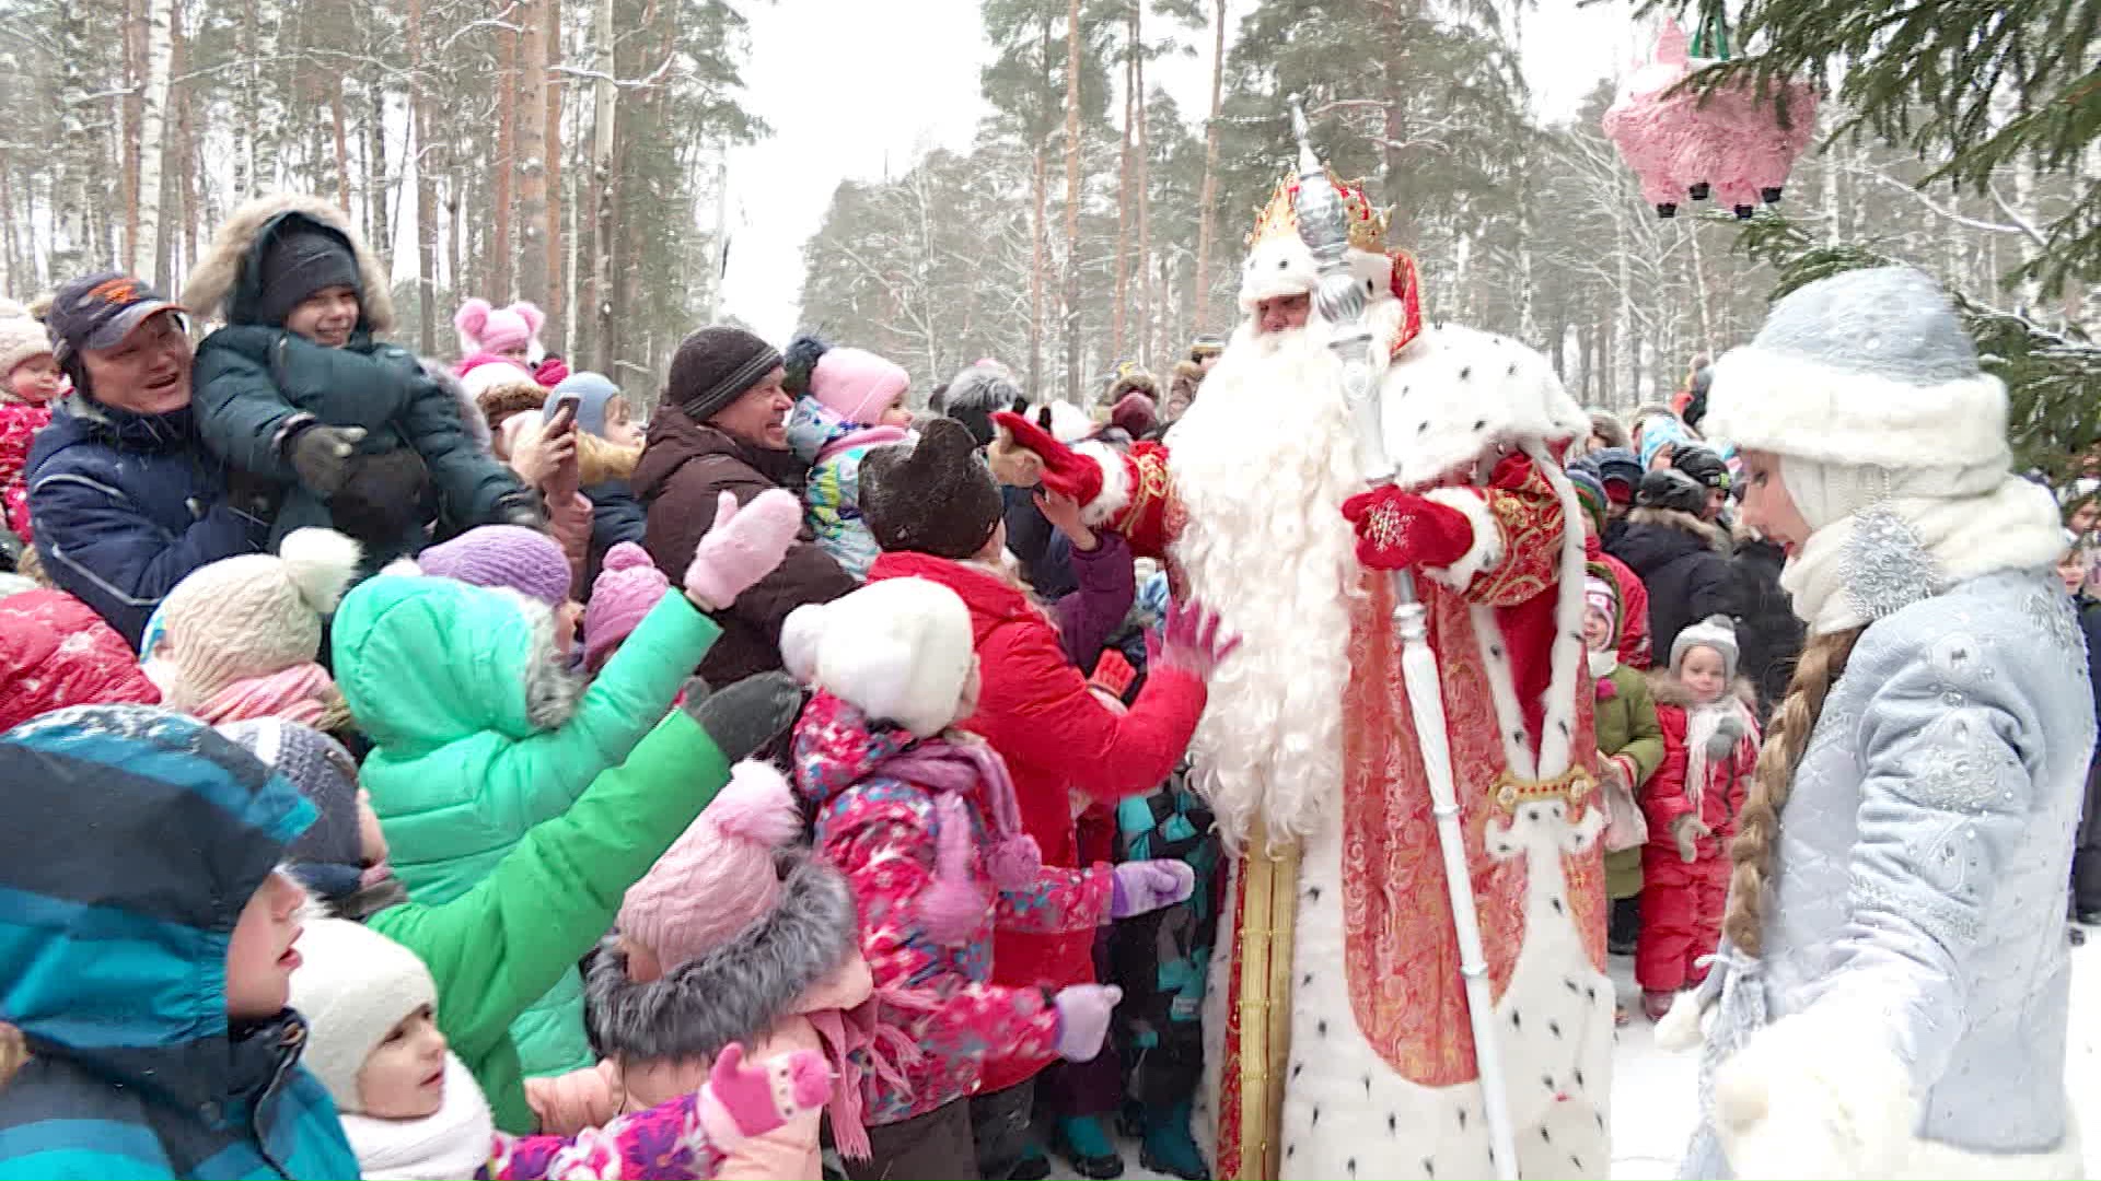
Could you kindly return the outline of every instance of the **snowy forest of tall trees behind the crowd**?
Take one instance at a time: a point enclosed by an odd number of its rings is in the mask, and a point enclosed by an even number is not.
[[[767,134],[740,105],[744,4],[0,0],[0,288],[118,265],[172,290],[229,208],[303,189],[391,244],[412,345],[443,351],[464,294],[532,298],[550,349],[647,393],[714,309],[721,151]],[[1643,48],[1687,15],[1620,8]],[[1964,294],[2030,414],[2084,431],[2101,4],[1693,8],[1738,21],[1746,67],[1834,90],[1748,223],[1643,204],[1599,128],[1630,61],[1534,118],[1534,0],[983,0],[975,143],[836,189],[803,319],[920,393],[985,355],[1080,403],[1118,361],[1164,370],[1231,328],[1303,95],[1334,170],[1391,206],[1427,315],[1546,347],[1588,403],[1668,393],[1817,267],[1899,258]],[[1929,69],[1891,69],[1891,42]],[[1149,80],[1168,57],[1204,63],[1208,109]]]

